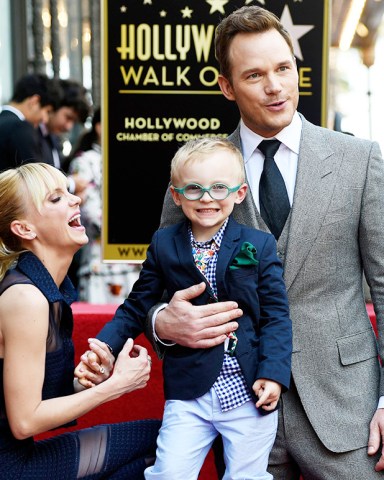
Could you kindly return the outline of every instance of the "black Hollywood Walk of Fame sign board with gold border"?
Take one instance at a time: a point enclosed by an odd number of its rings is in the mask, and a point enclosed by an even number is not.
[[[103,258],[141,262],[185,141],[229,135],[239,112],[217,85],[214,32],[242,5],[291,33],[299,111],[326,126],[330,0],[103,0]]]

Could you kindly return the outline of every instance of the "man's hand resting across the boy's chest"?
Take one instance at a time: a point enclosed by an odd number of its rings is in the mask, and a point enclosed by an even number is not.
[[[210,348],[223,343],[227,333],[238,328],[242,310],[236,302],[217,302],[208,305],[192,305],[205,283],[176,292],[164,310],[156,317],[156,334],[159,338],[184,347]]]

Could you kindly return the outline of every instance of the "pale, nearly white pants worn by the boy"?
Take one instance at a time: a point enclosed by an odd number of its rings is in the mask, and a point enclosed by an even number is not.
[[[167,400],[157,439],[156,462],[147,480],[196,480],[220,433],[223,480],[271,480],[268,457],[276,437],[277,411],[261,415],[253,402],[222,412],[214,388],[195,400]]]

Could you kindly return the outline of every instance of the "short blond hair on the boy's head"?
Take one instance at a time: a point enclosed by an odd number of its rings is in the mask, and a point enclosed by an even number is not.
[[[221,137],[202,137],[186,142],[176,152],[171,162],[171,184],[176,185],[180,170],[190,162],[202,161],[204,155],[210,155],[217,150],[226,150],[235,160],[233,178],[237,183],[244,183],[245,170],[243,156],[240,150],[229,140]]]

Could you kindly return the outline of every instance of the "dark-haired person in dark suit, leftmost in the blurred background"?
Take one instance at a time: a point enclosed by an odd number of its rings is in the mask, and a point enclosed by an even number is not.
[[[43,161],[37,126],[47,122],[61,99],[57,80],[28,74],[15,85],[12,99],[0,112],[0,171]]]

